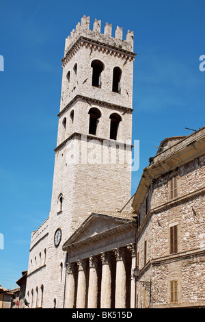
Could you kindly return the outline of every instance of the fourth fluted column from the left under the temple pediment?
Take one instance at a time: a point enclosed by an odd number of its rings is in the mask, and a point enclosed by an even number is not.
[[[100,308],[111,308],[111,256],[109,253],[101,254],[102,280]]]

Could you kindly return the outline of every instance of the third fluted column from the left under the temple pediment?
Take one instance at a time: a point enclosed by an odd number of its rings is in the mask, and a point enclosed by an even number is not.
[[[89,285],[87,308],[97,308],[98,306],[98,259],[94,256],[89,258]]]

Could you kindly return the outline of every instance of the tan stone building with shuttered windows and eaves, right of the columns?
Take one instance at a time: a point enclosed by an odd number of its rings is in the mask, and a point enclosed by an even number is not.
[[[205,306],[205,127],[166,138],[133,199],[137,306]],[[144,283],[145,282],[145,283]]]

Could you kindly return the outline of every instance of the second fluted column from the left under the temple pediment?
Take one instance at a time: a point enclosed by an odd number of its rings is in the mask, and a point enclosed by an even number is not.
[[[77,308],[85,308],[86,299],[86,262],[85,260],[77,260],[79,269],[78,286],[77,286]]]

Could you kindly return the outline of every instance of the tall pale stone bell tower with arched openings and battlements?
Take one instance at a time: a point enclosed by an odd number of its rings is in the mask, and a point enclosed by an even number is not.
[[[64,242],[91,212],[120,211],[131,197],[133,32],[90,17],[66,38],[44,301],[63,305]],[[55,284],[53,294],[52,281]],[[46,292],[46,288],[48,289]],[[61,303],[59,305],[59,302]],[[51,304],[52,307],[52,304]]]

